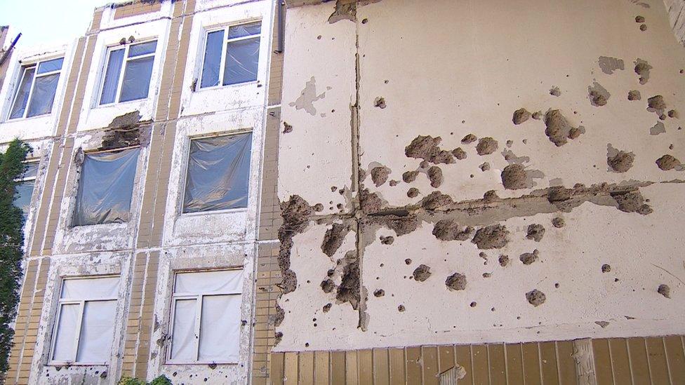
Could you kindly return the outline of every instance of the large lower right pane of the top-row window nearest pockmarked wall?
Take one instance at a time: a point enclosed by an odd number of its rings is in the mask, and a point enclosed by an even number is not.
[[[226,43],[223,85],[257,80],[259,38]]]

